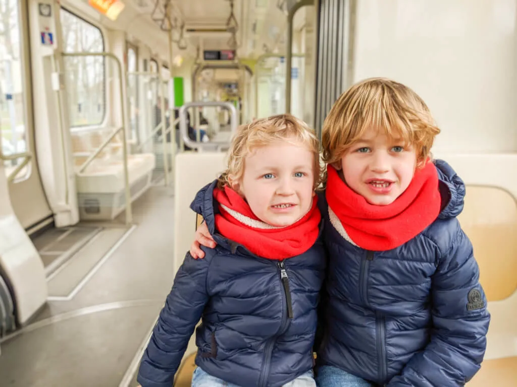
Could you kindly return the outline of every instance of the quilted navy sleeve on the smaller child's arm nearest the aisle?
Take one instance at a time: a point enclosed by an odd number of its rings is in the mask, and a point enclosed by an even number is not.
[[[185,256],[142,357],[137,379],[142,387],[172,386],[208,301],[206,277],[214,251],[206,249],[203,260],[194,260],[190,253]]]

